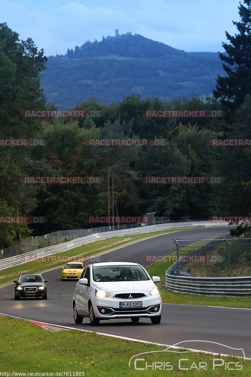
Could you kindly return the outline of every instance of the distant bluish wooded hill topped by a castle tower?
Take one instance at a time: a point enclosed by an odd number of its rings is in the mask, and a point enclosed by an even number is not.
[[[205,96],[224,75],[218,52],[185,52],[131,33],[87,41],[46,65],[41,86],[59,109],[90,97],[110,104],[131,93],[164,101]]]

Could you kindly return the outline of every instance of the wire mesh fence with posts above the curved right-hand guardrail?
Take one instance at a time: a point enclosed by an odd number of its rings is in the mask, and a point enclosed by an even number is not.
[[[230,233],[213,240],[173,240],[177,247],[170,274],[192,277],[251,276],[251,238]]]

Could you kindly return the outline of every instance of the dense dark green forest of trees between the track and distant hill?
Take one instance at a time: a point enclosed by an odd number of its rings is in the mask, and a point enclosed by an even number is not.
[[[247,0],[246,0],[247,1]],[[246,8],[245,8],[246,9]],[[239,8],[242,16],[242,6]],[[250,19],[251,19],[251,10]],[[243,19],[242,19],[243,21]],[[240,27],[241,38],[243,28]],[[230,36],[229,36],[230,38]],[[231,37],[232,38],[232,37]],[[249,34],[249,46],[251,34]],[[47,58],[31,39],[0,24],[1,139],[39,138],[45,146],[0,146],[0,215],[45,216],[41,225],[0,224],[0,248],[30,234],[87,228],[87,216],[155,216],[207,219],[247,216],[251,211],[250,147],[211,146],[210,139],[250,137],[251,80],[233,54],[228,67],[240,77],[241,90],[218,77],[215,97],[164,101],[130,94],[119,103],[84,99],[77,110],[100,110],[91,118],[24,118],[23,110],[53,110],[40,87]],[[231,40],[233,43],[234,40]],[[225,45],[227,51],[227,44]],[[232,53],[232,50],[231,50]],[[248,50],[249,53],[249,50]],[[243,57],[245,54],[243,52]],[[224,60],[222,57],[222,60]],[[231,71],[232,72],[232,71]],[[244,75],[244,78],[241,76]],[[242,80],[243,79],[243,80]],[[163,79],[164,82],[164,79]],[[232,89],[230,90],[230,86]],[[233,96],[239,90],[238,96]],[[235,101],[234,101],[235,100]],[[145,110],[226,110],[218,118],[146,118]],[[87,139],[165,139],[164,146],[88,146]],[[23,184],[24,176],[100,177],[98,184]],[[144,176],[220,176],[221,184],[143,184]]]

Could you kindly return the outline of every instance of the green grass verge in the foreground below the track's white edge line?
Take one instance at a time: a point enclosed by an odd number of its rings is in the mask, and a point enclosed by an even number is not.
[[[137,334],[137,324],[135,325]],[[139,359],[145,359],[144,361],[137,361],[137,368],[145,369],[146,362],[147,365],[151,366],[156,366],[153,363],[159,362],[159,368],[160,363],[165,363],[166,367],[166,363],[169,362],[167,365],[169,365],[169,368],[172,366],[173,369],[152,371],[152,368],[148,366],[147,370],[136,370],[134,368],[135,358],[132,359],[130,369],[129,360],[132,356],[142,352],[164,350],[166,347],[108,338],[96,333],[79,330],[45,331],[40,326],[28,321],[3,316],[0,317],[0,327],[1,372],[10,373],[10,375],[12,372],[38,372],[41,373],[40,376],[46,372],[65,372],[65,376],[73,376],[73,372],[75,372],[76,376],[76,372],[78,372],[78,376],[91,377],[111,377],[112,375],[116,377],[132,375],[145,377],[146,375],[162,376],[163,374],[175,377],[181,371],[184,377],[194,377],[196,375],[220,377],[226,375],[226,373],[227,375],[231,374],[231,376],[251,375],[251,360],[207,355],[203,352],[182,354],[172,352],[148,353],[137,356]],[[222,350],[222,353],[225,353],[225,349]],[[192,369],[188,371],[181,370],[179,368],[179,359],[189,359],[189,361],[182,361],[180,368],[190,369],[192,366]],[[224,364],[216,367],[213,371],[214,359],[222,359]],[[197,370],[199,362],[203,362],[204,368],[207,369]],[[242,371],[231,370],[230,374],[228,374],[229,371],[227,370],[226,372],[225,362],[233,362],[234,364],[230,364],[230,368],[233,369],[242,366]],[[205,363],[207,363],[206,366]],[[220,364],[222,362],[217,363]],[[66,374],[67,372],[68,374]]]

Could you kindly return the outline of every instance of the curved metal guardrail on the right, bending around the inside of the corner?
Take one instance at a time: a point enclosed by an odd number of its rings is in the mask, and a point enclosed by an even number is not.
[[[231,239],[230,233],[221,237]],[[189,251],[188,255],[204,255],[208,250],[225,240],[215,238],[195,250]],[[183,262],[179,262],[183,265]],[[251,295],[251,276],[240,277],[192,277],[175,276],[172,270],[180,270],[178,261],[168,268],[165,275],[165,287],[176,293],[189,293],[198,296],[249,296]],[[182,270],[181,270],[182,271]]]

